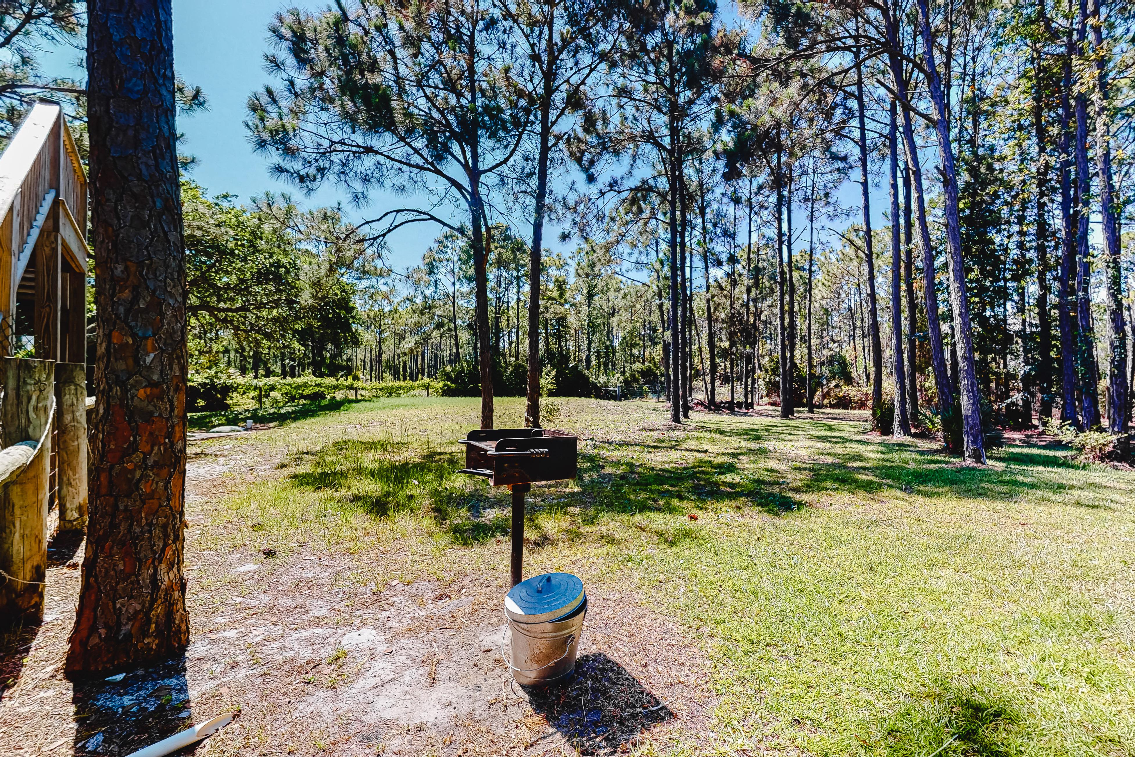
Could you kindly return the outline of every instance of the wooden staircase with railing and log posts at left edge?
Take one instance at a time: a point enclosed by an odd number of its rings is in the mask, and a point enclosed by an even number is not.
[[[0,154],[0,624],[43,607],[48,537],[86,525],[86,174],[59,103]]]

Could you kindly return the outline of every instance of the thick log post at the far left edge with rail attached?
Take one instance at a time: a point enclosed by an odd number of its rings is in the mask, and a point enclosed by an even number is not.
[[[3,446],[43,439],[32,461],[0,489],[0,619],[6,623],[39,619],[48,566],[48,477],[51,435],[48,422],[54,363],[5,358],[6,382],[0,403]]]

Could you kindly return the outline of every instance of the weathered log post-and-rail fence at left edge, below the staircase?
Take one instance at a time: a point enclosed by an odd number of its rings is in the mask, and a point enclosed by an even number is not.
[[[43,612],[50,525],[86,527],[86,370],[3,359],[0,399],[0,623]]]

